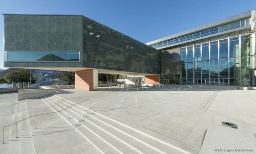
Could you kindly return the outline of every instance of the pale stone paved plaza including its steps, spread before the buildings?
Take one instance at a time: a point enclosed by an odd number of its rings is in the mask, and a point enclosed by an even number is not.
[[[102,87],[96,91],[58,90],[54,96],[33,99],[30,105],[28,102],[23,104],[20,107],[22,118],[27,114],[31,116],[53,112],[53,110],[58,111],[63,109],[65,104],[71,105],[71,103],[90,98],[91,104],[90,101],[86,101],[88,112],[84,112],[81,116],[82,111],[79,111],[81,114],[76,115],[71,110],[70,116],[73,119],[67,118],[68,112],[40,116],[37,118],[37,129],[34,125],[35,119],[31,118],[28,121],[31,133],[27,132],[27,135],[32,140],[18,143],[18,145],[22,148],[21,151],[28,150],[31,153],[96,153],[100,152],[99,149],[103,153],[112,153],[112,148],[117,148],[115,150],[117,153],[199,153],[205,131],[212,125],[221,126],[222,121],[237,124],[239,131],[255,133],[255,94],[255,90],[238,90],[238,87],[195,85],[144,88]],[[61,105],[61,100],[65,101],[65,104]],[[19,113],[17,108],[15,108],[16,113],[11,112],[12,104],[16,102],[17,93],[0,94],[0,127],[17,119],[17,113]],[[80,107],[82,106],[84,104],[80,104]],[[82,123],[83,120],[79,120],[79,116],[85,117],[85,122]],[[82,132],[79,129],[81,125],[76,126],[75,119],[88,127],[89,131],[86,132],[89,133],[84,134],[88,140],[79,133]],[[95,119],[101,119],[105,125],[99,121],[97,123]],[[89,122],[94,122],[97,126],[95,125],[94,128]],[[22,123],[22,127],[24,125]],[[127,129],[127,126],[131,128]],[[96,129],[99,127],[101,131],[97,133]],[[6,129],[5,133],[6,136],[9,134],[10,139],[14,141],[11,134],[15,132],[11,130]],[[94,130],[95,136],[90,134]],[[138,144],[133,144],[133,140],[129,138],[126,139],[123,136],[125,133],[128,134],[126,137],[133,138]],[[18,140],[23,140],[23,137],[25,139],[23,134],[18,134],[18,136],[20,136]],[[147,137],[152,141],[146,139]],[[6,141],[8,141],[7,137]],[[102,141],[109,146],[97,146],[96,143]],[[29,147],[29,143],[33,143],[33,147]],[[94,144],[99,149],[95,148]],[[0,148],[6,153],[15,153],[15,150],[10,151],[10,146],[14,145],[12,142],[5,143],[1,144]]]

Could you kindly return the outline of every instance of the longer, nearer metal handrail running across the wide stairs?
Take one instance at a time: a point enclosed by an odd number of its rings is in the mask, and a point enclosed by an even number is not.
[[[36,117],[37,117],[37,116],[46,115],[46,114],[51,114],[51,113],[57,113],[57,112],[60,112],[60,111],[69,109],[69,108],[71,108],[71,107],[73,107],[73,106],[75,106],[75,105],[78,105],[78,104],[80,104],[81,102],[84,102],[84,110],[86,110],[86,102],[85,102],[86,100],[90,100],[90,101],[91,101],[91,98],[84,99],[83,101],[77,102],[76,104],[74,104],[74,105],[72,105],[72,106],[70,106],[70,107],[67,107],[67,108],[65,108],[65,109],[59,110],[59,111],[54,111],[54,112],[49,112],[49,113],[44,113],[44,114],[38,114],[38,115],[32,115],[32,116],[29,116],[29,117],[24,118],[24,119],[22,119],[22,120],[19,120],[19,121],[16,121],[16,122],[13,122],[13,123],[11,123],[11,124],[8,124],[8,125],[4,126],[4,127],[3,127],[3,144],[5,143],[5,142],[4,142],[5,127],[8,127],[8,126],[10,126],[10,125],[15,124],[15,126],[16,126],[16,128],[15,128],[16,131],[15,131],[15,132],[16,132],[16,138],[17,138],[17,123],[18,123],[18,122],[21,122],[21,121],[23,121],[23,120],[26,120],[26,119],[35,117],[35,129],[37,129],[37,128],[36,128]],[[50,101],[50,102],[51,102],[51,101]]]

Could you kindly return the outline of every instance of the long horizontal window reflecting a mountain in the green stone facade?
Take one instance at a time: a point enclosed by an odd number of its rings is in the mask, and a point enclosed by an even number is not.
[[[8,52],[8,61],[23,61],[23,62],[37,62],[37,61],[80,61],[79,52]]]

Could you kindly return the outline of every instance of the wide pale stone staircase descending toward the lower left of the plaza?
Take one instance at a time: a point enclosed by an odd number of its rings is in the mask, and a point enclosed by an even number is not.
[[[90,109],[89,98],[75,103],[56,94],[30,101],[35,102],[33,105],[29,101],[20,103],[20,111],[17,109],[18,105],[14,108],[14,121],[25,120],[5,128],[4,144],[9,143],[7,153],[70,153],[68,147],[76,147],[75,144],[79,144],[77,140],[88,143],[90,150],[81,146],[77,148],[80,151],[75,150],[75,153],[195,153],[183,143],[103,112],[94,112]],[[53,131],[54,127],[45,126],[47,122],[54,123],[62,130]],[[58,124],[60,122],[66,125]],[[65,137],[70,142],[63,141],[63,133],[69,131],[65,130],[67,125],[72,128],[69,130],[76,131],[79,139],[73,133]],[[54,136],[50,141],[44,136],[46,132],[48,136]],[[62,135],[57,136],[61,133]],[[56,144],[59,149],[57,152],[49,148],[51,143]],[[64,147],[67,149],[63,149]]]

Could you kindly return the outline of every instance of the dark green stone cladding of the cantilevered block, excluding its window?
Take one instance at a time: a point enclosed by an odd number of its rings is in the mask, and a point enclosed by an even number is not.
[[[6,61],[5,67],[86,67],[161,73],[158,50],[87,17],[6,14],[4,20],[7,52],[80,52],[80,62]],[[90,32],[94,34],[90,35]]]

